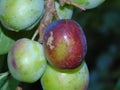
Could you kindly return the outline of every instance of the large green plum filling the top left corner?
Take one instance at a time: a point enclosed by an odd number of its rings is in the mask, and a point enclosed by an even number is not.
[[[44,0],[0,0],[0,21],[10,30],[31,30],[43,11]]]

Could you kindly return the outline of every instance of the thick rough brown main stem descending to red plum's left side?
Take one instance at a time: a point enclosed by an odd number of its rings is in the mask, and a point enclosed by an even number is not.
[[[59,19],[59,16],[58,16],[56,8],[55,8],[55,1],[54,0],[45,0],[45,14],[44,14],[44,17],[38,27],[40,43],[43,43],[44,29],[46,28],[46,26],[48,24],[50,24],[52,22],[53,16],[55,16],[56,19]]]

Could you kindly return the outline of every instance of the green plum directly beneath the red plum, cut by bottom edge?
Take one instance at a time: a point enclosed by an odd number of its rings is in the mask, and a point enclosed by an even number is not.
[[[86,90],[88,83],[89,71],[85,62],[67,71],[48,65],[41,78],[43,90]]]

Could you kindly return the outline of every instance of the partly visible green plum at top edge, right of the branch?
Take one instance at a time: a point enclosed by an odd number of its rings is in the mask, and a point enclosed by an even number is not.
[[[77,4],[83,6],[86,9],[92,9],[102,4],[105,0],[71,0],[71,1],[76,2]]]

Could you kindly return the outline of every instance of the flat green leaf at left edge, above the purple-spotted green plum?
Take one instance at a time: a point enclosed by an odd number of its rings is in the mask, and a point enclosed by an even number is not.
[[[8,53],[15,41],[4,34],[0,25],[0,55]]]

